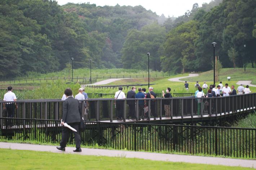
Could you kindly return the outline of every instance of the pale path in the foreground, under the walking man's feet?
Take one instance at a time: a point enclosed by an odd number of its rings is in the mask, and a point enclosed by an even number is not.
[[[32,150],[32,151],[49,151],[49,152],[55,152],[55,153],[62,153],[62,151],[57,150],[56,146],[33,145],[33,144],[24,144],[24,143],[0,142],[0,148]],[[66,147],[65,153],[79,154],[79,155],[140,158],[140,159],[147,159],[147,160],[154,160],[154,161],[187,162],[187,163],[194,163],[194,164],[211,164],[211,165],[242,166],[242,167],[256,168],[256,160],[175,155],[175,154],[158,154],[158,153],[152,153],[152,152],[135,152],[135,151],[89,149],[89,148],[82,148],[82,152],[75,153],[72,151],[74,149],[75,148],[72,148],[72,147]]]

